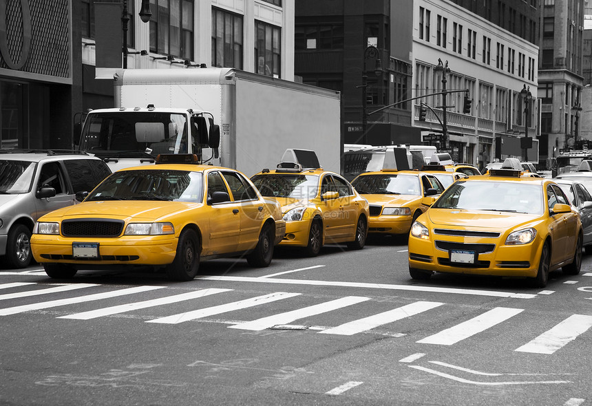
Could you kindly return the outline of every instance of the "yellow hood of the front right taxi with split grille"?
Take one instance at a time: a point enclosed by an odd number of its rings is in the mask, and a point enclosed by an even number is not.
[[[466,209],[430,209],[427,216],[434,226],[456,226],[471,230],[504,231],[518,224],[537,220],[540,214],[504,213]]]

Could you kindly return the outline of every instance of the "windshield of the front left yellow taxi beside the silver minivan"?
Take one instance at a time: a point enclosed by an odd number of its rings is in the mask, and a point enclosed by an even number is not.
[[[202,173],[167,169],[115,172],[85,202],[98,200],[202,202]]]

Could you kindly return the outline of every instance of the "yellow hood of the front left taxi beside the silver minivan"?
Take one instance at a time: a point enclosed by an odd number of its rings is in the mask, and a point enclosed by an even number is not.
[[[133,218],[134,221],[152,221],[170,213],[193,208],[201,203],[191,202],[155,202],[154,200],[114,200],[82,202],[74,206],[52,211],[44,217],[107,217],[118,220]]]

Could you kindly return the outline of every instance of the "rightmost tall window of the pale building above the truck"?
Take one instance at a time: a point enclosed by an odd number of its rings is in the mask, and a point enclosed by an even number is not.
[[[279,27],[255,21],[255,72],[279,78],[282,72],[281,40]]]

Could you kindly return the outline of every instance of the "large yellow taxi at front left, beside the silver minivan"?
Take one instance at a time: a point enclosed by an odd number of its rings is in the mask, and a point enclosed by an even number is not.
[[[286,230],[279,204],[239,171],[194,162],[193,155],[161,155],[157,164],[116,171],[82,203],[40,217],[34,259],[54,278],[153,266],[189,281],[200,260],[235,255],[268,266]]]

